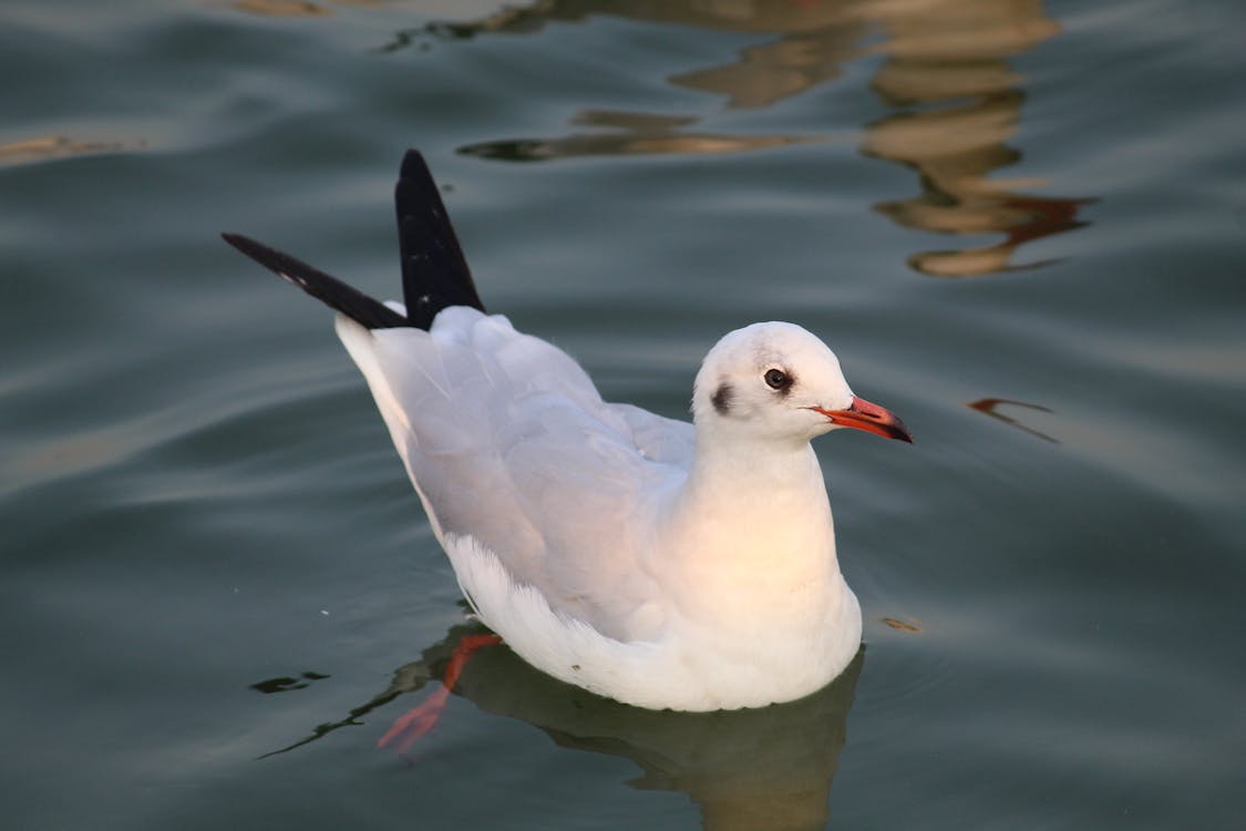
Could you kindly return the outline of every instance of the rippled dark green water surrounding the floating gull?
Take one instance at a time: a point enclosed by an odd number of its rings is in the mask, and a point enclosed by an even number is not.
[[[1232,0],[6,2],[0,822],[1240,825],[1242,32]],[[907,421],[819,445],[849,675],[678,716],[498,649],[414,765],[375,749],[457,588],[330,316],[217,234],[394,297],[409,146],[490,306],[607,397],[680,415],[719,335],[786,319]]]

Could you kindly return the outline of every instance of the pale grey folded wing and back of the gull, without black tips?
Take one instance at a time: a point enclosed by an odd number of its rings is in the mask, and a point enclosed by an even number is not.
[[[621,640],[660,625],[645,557],[690,425],[602,401],[556,346],[468,308],[430,333],[338,331],[368,379],[439,538],[468,536],[549,605]]]

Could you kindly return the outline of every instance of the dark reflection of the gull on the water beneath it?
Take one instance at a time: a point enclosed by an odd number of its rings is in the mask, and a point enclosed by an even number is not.
[[[481,632],[476,624],[455,627],[419,660],[395,670],[388,689],[344,719],[319,725],[262,757],[363,725],[365,716],[440,678],[460,638]],[[486,713],[532,724],[562,748],[633,761],[643,772],[630,780],[632,786],[688,794],[708,830],[821,829],[863,663],[862,649],[830,686],[790,704],[673,713],[599,698],[532,669],[505,647],[493,647],[472,657],[454,694]]]

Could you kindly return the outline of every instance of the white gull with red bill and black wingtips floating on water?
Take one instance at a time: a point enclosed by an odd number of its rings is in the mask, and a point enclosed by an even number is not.
[[[647,709],[765,706],[844,672],[861,607],[810,441],[911,442],[900,419],[790,323],[709,350],[692,424],[608,402],[567,353],[485,311],[415,150],[395,204],[401,304],[222,237],[336,310],[476,615],[537,669]]]

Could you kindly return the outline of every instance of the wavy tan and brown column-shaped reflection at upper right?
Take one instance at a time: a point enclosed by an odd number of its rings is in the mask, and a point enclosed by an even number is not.
[[[930,250],[908,264],[923,274],[971,277],[1034,268],[1012,264],[1022,244],[1080,228],[1089,199],[1034,197],[1042,179],[991,179],[1020,159],[1006,145],[1017,132],[1024,92],[1007,59],[1059,32],[1038,0],[941,0],[896,4],[880,15],[890,57],[872,86],[897,110],[866,128],[863,151],[920,174],[921,193],[875,206],[897,223],[943,234],[1003,233],[993,245]]]

